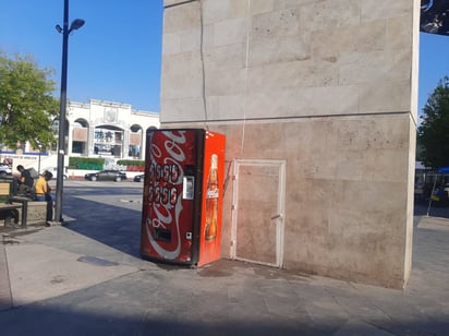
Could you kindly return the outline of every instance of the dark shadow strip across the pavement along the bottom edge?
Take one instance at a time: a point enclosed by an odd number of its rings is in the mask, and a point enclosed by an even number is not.
[[[63,299],[63,298],[62,298]],[[93,304],[94,297],[83,299]],[[120,301],[120,298],[117,298]],[[227,312],[210,311],[206,315],[195,315],[195,305],[186,307],[185,312],[170,316],[161,313],[161,308],[148,307],[137,314],[126,314],[124,307],[105,307],[99,311],[80,311],[76,307],[64,304],[61,310],[61,298],[58,303],[48,300],[2,312],[0,323],[2,335],[409,335],[410,331],[421,331],[420,335],[442,335],[447,321],[391,322],[377,325],[376,321],[351,322],[345,319],[320,319],[320,323],[307,314],[299,319],[290,319],[272,314],[259,319],[245,319],[229,323]],[[169,305],[169,304],[167,304]],[[98,309],[98,307],[96,308]],[[130,309],[130,308],[128,308]],[[231,312],[228,312],[231,313]],[[26,321],[26,323],[24,323]],[[418,335],[416,334],[416,335]]]

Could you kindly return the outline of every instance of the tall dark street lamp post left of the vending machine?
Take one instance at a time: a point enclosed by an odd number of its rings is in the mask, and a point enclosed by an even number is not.
[[[64,176],[64,153],[65,153],[65,109],[66,109],[66,86],[68,86],[68,53],[69,35],[72,31],[80,29],[84,25],[84,20],[75,19],[69,27],[69,0],[64,0],[64,22],[63,27],[56,26],[58,33],[62,34],[62,72],[61,72],[61,95],[59,105],[59,134],[58,134],[58,167],[54,220],[62,221],[62,188]]]

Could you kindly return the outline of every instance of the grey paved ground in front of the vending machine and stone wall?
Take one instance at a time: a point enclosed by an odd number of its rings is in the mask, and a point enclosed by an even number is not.
[[[225,260],[159,265],[66,227],[0,233],[2,336],[449,333],[447,219],[416,217],[403,291]]]

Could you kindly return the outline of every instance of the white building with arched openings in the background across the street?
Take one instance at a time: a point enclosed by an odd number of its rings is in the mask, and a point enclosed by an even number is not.
[[[145,131],[159,128],[159,113],[95,99],[71,101],[66,119],[68,156],[144,159]]]

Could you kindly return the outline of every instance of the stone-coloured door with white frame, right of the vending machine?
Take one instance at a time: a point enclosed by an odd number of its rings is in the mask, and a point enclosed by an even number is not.
[[[234,161],[231,257],[282,266],[286,161]]]

